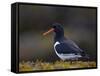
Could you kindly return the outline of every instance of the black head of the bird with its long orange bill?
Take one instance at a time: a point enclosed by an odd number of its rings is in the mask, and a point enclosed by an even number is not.
[[[56,34],[63,34],[64,33],[64,30],[63,30],[63,27],[61,24],[59,23],[54,23],[51,26],[51,29],[49,29],[47,32],[43,33],[43,35],[47,35],[49,34],[50,32],[55,32]]]

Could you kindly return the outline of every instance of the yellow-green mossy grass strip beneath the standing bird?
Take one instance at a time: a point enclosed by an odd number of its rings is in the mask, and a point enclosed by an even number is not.
[[[55,69],[71,69],[71,68],[89,68],[96,67],[95,61],[55,61],[43,62],[41,60],[22,61],[19,63],[19,71],[36,71],[36,70],[55,70]]]

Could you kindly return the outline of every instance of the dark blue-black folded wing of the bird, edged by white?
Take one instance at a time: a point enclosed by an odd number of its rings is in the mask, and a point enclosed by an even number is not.
[[[55,49],[58,53],[64,53],[64,54],[79,54],[80,52],[78,51],[79,49],[73,48],[72,45],[68,43],[60,43],[55,46]]]

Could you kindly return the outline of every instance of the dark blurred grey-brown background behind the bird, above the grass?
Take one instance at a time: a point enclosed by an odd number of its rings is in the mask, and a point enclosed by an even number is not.
[[[20,61],[59,60],[53,49],[54,33],[42,35],[55,22],[62,24],[65,37],[72,39],[91,56],[91,59],[96,59],[95,8],[20,5]]]

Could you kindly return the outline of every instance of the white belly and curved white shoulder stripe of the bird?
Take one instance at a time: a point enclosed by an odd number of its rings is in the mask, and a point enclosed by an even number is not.
[[[56,45],[59,45],[59,44],[60,44],[60,43],[59,43],[58,41],[54,44],[54,50],[55,50],[57,56],[58,56],[60,59],[62,59],[62,60],[68,60],[68,59],[74,60],[74,59],[77,59],[77,58],[82,57],[81,55],[76,55],[76,54],[74,54],[74,53],[72,53],[72,54],[59,54],[59,53],[56,51],[56,48],[55,48]]]

